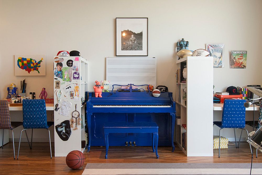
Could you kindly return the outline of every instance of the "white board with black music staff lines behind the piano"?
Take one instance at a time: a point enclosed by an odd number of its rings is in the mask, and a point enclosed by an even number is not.
[[[109,90],[113,84],[152,84],[156,87],[156,58],[107,57],[106,80],[110,80]]]

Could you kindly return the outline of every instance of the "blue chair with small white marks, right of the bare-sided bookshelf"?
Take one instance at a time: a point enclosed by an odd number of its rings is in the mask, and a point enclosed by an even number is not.
[[[222,113],[222,121],[215,121],[213,125],[216,125],[220,127],[219,129],[219,156],[220,157],[220,138],[221,138],[221,129],[223,128],[234,128],[234,134],[235,134],[235,143],[236,148],[238,148],[241,136],[239,138],[238,146],[237,146],[237,139],[236,139],[236,128],[242,129],[247,131],[247,129],[244,129],[245,127],[245,106],[244,106],[245,100],[231,100],[231,99],[225,99],[224,105],[223,105],[223,113]],[[242,135],[241,131],[241,135]],[[247,131],[248,135],[248,131]],[[250,150],[252,153],[251,145]]]

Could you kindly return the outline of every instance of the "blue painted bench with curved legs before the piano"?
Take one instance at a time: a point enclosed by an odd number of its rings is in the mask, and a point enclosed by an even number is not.
[[[108,153],[108,134],[109,133],[152,133],[152,149],[153,153],[156,151],[156,158],[159,158],[157,153],[158,144],[158,126],[155,122],[136,122],[132,124],[127,124],[125,122],[117,123],[105,123],[103,126],[104,139],[106,144],[106,155],[107,159]],[[156,148],[155,147],[156,144]]]

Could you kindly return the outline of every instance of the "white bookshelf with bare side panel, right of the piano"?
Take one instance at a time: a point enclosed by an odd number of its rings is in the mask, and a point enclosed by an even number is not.
[[[213,57],[179,59],[176,70],[183,72],[185,65],[186,81],[176,77],[176,116],[181,119],[175,141],[187,156],[213,156]]]

